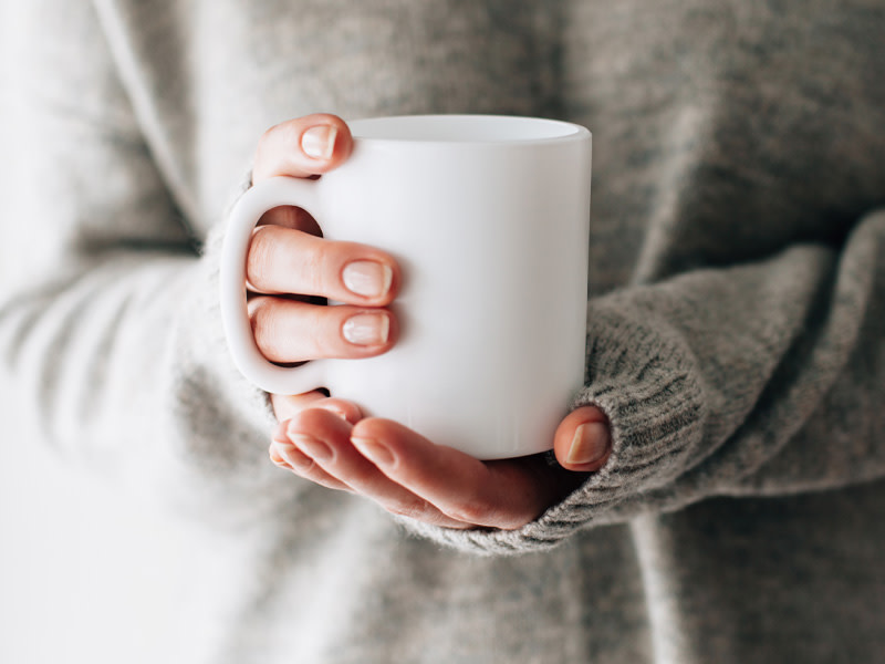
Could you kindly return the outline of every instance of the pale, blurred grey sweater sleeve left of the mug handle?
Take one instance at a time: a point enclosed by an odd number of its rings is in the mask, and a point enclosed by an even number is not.
[[[188,231],[194,206],[145,139],[150,118],[134,113],[90,3],[11,4],[0,394],[14,438],[201,520],[253,517],[294,489],[267,460],[267,395],[225,345],[220,226]]]

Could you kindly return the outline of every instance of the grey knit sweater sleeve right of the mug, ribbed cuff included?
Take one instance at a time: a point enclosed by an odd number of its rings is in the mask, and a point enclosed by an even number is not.
[[[516,531],[408,523],[485,554],[712,496],[779,496],[885,476],[885,210],[840,246],[796,245],[590,302],[574,407],[611,421],[607,464]]]

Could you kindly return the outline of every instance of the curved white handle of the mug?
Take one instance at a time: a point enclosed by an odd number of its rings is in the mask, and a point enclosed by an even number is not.
[[[258,350],[246,309],[246,257],[261,216],[281,205],[296,205],[322,217],[319,180],[279,176],[262,180],[235,204],[221,248],[219,274],[221,322],[233,364],[249,381],[273,394],[302,394],[325,383],[326,360],[284,367]]]

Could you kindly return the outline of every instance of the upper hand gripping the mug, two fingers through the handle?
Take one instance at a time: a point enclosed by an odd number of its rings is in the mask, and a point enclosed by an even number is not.
[[[261,137],[252,179],[327,173],[352,147],[340,117],[292,120]],[[369,357],[396,341],[396,318],[386,309],[399,284],[394,259],[373,247],[320,236],[316,221],[292,206],[268,211],[252,235],[246,269],[249,319],[256,345],[271,362]],[[344,304],[323,307],[324,298]],[[313,392],[302,401],[323,396]]]

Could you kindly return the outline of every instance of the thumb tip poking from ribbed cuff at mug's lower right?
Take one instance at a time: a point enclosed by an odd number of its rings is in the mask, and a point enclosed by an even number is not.
[[[560,465],[579,473],[598,470],[612,453],[608,418],[595,406],[569,413],[556,428],[553,440]]]

